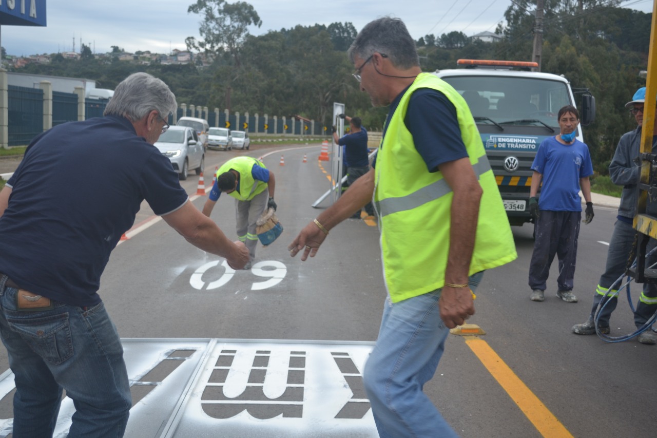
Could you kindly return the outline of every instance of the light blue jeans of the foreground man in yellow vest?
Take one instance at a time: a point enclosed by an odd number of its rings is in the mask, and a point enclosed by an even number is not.
[[[483,275],[470,277],[472,291]],[[438,309],[441,291],[399,303],[386,299],[378,339],[363,370],[381,438],[459,436],[422,392],[438,368],[449,334]]]

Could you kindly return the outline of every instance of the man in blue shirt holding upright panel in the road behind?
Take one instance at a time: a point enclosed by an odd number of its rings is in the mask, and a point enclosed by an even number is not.
[[[367,130],[363,128],[360,117],[350,117],[339,114],[349,122],[349,134],[338,138],[335,126],[333,127],[333,140],[340,146],[344,146],[344,162],[348,163],[347,168],[347,186],[353,184],[355,180],[369,172],[369,158],[367,149]],[[374,207],[372,203],[365,205],[365,212],[369,216],[374,216]],[[352,218],[359,219],[361,212],[355,212]]]

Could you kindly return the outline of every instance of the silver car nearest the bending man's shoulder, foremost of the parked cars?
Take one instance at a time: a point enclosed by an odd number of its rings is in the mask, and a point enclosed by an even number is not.
[[[196,175],[203,172],[205,153],[193,128],[187,126],[170,126],[155,143],[155,147],[165,157],[169,157],[173,170],[178,172],[181,180],[187,180],[189,170],[196,170]]]

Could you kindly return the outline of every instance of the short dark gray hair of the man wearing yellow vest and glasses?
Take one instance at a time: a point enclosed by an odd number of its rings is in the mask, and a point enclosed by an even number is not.
[[[388,55],[392,65],[403,70],[419,66],[415,40],[399,18],[384,16],[365,25],[347,51],[351,62],[363,60],[374,53]]]

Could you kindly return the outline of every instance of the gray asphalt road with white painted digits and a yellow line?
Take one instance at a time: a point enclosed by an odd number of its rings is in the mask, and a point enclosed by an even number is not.
[[[277,215],[284,233],[269,247],[258,247],[260,268],[229,272],[220,258],[192,247],[163,221],[150,222],[152,212],[144,205],[135,228],[152,225],[115,249],[101,280],[101,297],[120,335],[375,341],[386,297],[376,227],[346,220],[306,262],[290,258],[286,250],[298,230],[318,214],[311,204],[329,188],[322,167],[329,168],[317,161],[319,151],[315,144],[207,153],[206,186],[215,166],[242,153],[263,156],[275,172]],[[191,176],[182,185],[194,195],[198,178]],[[194,205],[202,208],[205,199],[194,199]],[[320,208],[327,205],[325,201]],[[212,218],[229,236],[235,235],[233,199],[222,197]],[[477,313],[469,321],[486,335],[475,341],[450,335],[438,372],[425,387],[461,436],[655,436],[657,346],[634,340],[606,343],[570,331],[589,313],[614,218],[614,209],[600,207],[593,222],[581,226],[576,304],[555,296],[556,261],[545,302],[530,301],[532,228],[513,229],[518,259],[486,273],[477,292]],[[638,289],[633,287],[634,299]],[[612,317],[612,335],[631,331],[631,312],[622,298]],[[0,370],[6,368],[6,353],[0,351]],[[7,405],[6,400],[1,403]],[[371,436],[323,435],[321,424],[316,426],[320,432],[306,436]],[[276,435],[266,431],[266,424],[258,427],[264,427],[262,433],[249,436]]]

